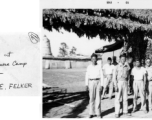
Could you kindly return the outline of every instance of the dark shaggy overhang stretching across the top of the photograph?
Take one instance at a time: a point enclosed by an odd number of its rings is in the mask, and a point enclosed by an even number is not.
[[[101,39],[125,39],[128,34],[152,32],[152,10],[134,9],[44,9],[43,27],[64,28],[79,37],[100,36]]]

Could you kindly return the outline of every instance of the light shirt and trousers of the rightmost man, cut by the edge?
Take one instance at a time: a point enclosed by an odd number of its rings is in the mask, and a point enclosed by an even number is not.
[[[149,92],[149,110],[152,110],[152,66],[146,67],[147,72],[147,87]]]

